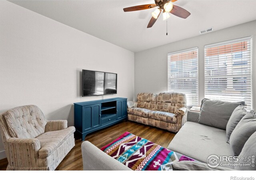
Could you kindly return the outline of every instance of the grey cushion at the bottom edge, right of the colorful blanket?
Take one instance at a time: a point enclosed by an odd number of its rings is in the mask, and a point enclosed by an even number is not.
[[[172,163],[172,170],[234,170],[222,166],[210,168],[206,163],[196,161],[178,161]]]

